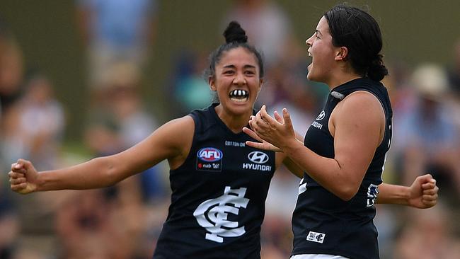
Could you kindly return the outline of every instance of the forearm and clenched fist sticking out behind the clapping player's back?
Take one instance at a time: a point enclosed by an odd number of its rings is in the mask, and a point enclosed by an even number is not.
[[[438,190],[436,180],[432,178],[432,175],[426,174],[415,178],[410,186],[382,183],[379,185],[376,202],[426,209],[436,205]]]

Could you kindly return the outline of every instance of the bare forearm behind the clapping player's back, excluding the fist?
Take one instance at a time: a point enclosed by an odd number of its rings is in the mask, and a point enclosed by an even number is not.
[[[379,195],[377,195],[376,203],[408,205],[409,197],[410,190],[408,187],[382,183],[379,185]]]

